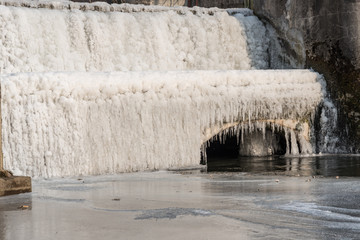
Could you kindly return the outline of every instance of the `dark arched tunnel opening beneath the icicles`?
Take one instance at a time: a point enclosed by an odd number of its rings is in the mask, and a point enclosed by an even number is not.
[[[246,131],[241,136],[226,131],[207,143],[202,164],[207,171],[241,172],[264,168],[264,161],[286,154],[286,138],[283,130],[270,129]]]

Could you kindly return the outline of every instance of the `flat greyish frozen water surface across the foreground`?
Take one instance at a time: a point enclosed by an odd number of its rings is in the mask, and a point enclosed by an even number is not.
[[[0,239],[359,239],[359,180],[200,171],[34,180],[33,193],[0,199]]]

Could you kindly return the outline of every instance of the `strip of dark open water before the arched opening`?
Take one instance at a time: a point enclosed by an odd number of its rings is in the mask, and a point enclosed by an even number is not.
[[[208,159],[207,171],[291,176],[360,176],[360,155],[213,157]]]

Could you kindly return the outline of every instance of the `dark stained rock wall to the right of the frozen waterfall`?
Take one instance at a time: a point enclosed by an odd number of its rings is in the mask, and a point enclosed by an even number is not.
[[[327,80],[347,150],[360,149],[360,1],[252,0],[247,7],[277,30],[286,52]]]

